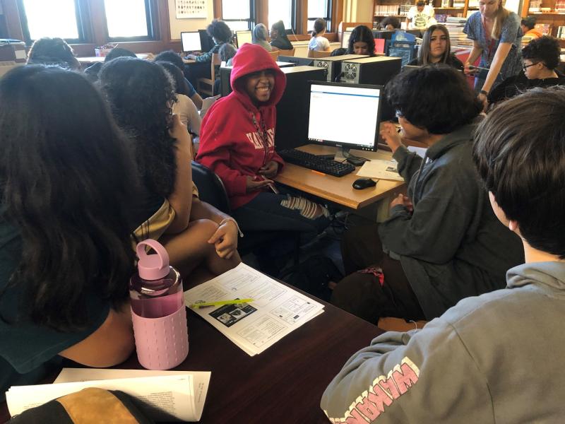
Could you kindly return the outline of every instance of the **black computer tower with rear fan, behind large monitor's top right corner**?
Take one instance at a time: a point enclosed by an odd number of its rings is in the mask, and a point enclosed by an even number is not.
[[[386,86],[386,83],[400,72],[402,59],[400,57],[366,57],[344,61],[342,64],[343,76],[341,82],[354,84],[371,84]],[[394,110],[388,104],[384,95],[382,97],[381,120],[393,119]]]

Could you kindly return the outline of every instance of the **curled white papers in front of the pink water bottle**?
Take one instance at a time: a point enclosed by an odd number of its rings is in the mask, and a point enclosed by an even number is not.
[[[6,391],[11,416],[87,387],[121,390],[143,402],[156,421],[198,421],[210,384],[209,371],[64,368],[54,384],[13,386]]]

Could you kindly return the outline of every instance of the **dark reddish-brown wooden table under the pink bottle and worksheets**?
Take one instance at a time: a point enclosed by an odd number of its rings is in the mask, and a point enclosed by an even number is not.
[[[319,406],[323,390],[353,353],[383,333],[326,304],[323,314],[249,356],[196,314],[189,312],[188,322],[189,355],[175,370],[212,371],[203,424],[327,424]],[[141,366],[133,354],[118,368]],[[8,418],[1,403],[0,423]]]

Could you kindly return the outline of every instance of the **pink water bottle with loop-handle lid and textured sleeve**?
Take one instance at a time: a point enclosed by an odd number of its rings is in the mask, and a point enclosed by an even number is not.
[[[157,253],[147,254],[145,247]],[[143,240],[136,252],[138,272],[129,282],[129,295],[137,357],[148,370],[169,370],[189,354],[182,278],[159,242]]]

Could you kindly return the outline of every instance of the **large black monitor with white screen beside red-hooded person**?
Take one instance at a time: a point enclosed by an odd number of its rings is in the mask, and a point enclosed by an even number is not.
[[[311,83],[309,141],[374,151],[379,139],[381,95],[381,86]],[[330,117],[328,110],[337,113]]]

